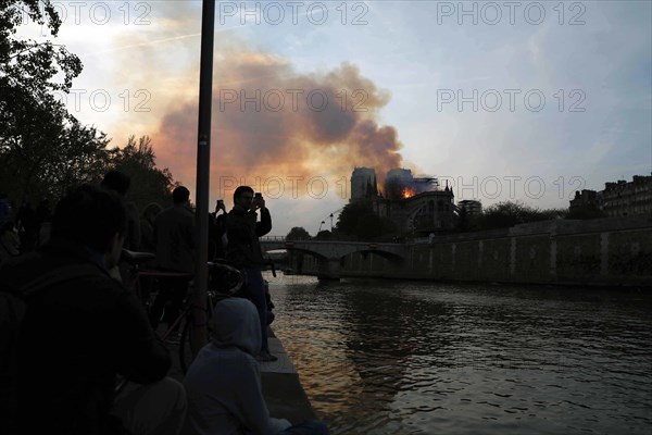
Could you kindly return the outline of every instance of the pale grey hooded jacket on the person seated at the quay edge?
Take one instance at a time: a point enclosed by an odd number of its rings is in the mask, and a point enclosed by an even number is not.
[[[188,432],[201,435],[273,435],[290,426],[269,418],[260,365],[261,326],[254,304],[227,298],[215,306],[204,346],[184,380],[188,395]]]

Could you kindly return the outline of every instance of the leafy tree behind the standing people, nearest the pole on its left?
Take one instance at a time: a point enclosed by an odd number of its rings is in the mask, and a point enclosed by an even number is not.
[[[136,140],[130,136],[123,148],[114,148],[109,163],[115,169],[129,175],[131,184],[127,200],[134,201],[139,210],[145,210],[150,202],[162,207],[172,204],[172,190],[178,186],[167,167],[156,167],[156,156],[152,141],[148,136]]]

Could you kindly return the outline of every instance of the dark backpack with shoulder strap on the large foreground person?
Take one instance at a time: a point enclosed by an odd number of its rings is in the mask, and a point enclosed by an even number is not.
[[[97,276],[93,264],[71,264],[39,275],[20,287],[0,283],[0,422],[15,432],[16,381],[18,364],[18,337],[27,311],[28,300],[36,294],[66,281]]]

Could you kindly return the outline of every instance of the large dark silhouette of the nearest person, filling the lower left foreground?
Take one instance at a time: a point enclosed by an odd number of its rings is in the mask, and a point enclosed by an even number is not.
[[[108,274],[125,231],[122,199],[84,185],[57,204],[45,246],[0,268],[3,290],[27,301],[16,349],[18,433],[180,430],[186,398],[165,378],[170,353],[140,301]],[[136,384],[114,397],[118,374]]]

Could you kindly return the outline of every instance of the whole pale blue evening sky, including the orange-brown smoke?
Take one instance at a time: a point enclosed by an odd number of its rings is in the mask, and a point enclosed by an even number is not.
[[[68,110],[195,195],[201,2],[54,4]],[[650,175],[651,27],[650,1],[218,1],[211,202],[248,184],[314,235],[356,166],[540,209]]]

